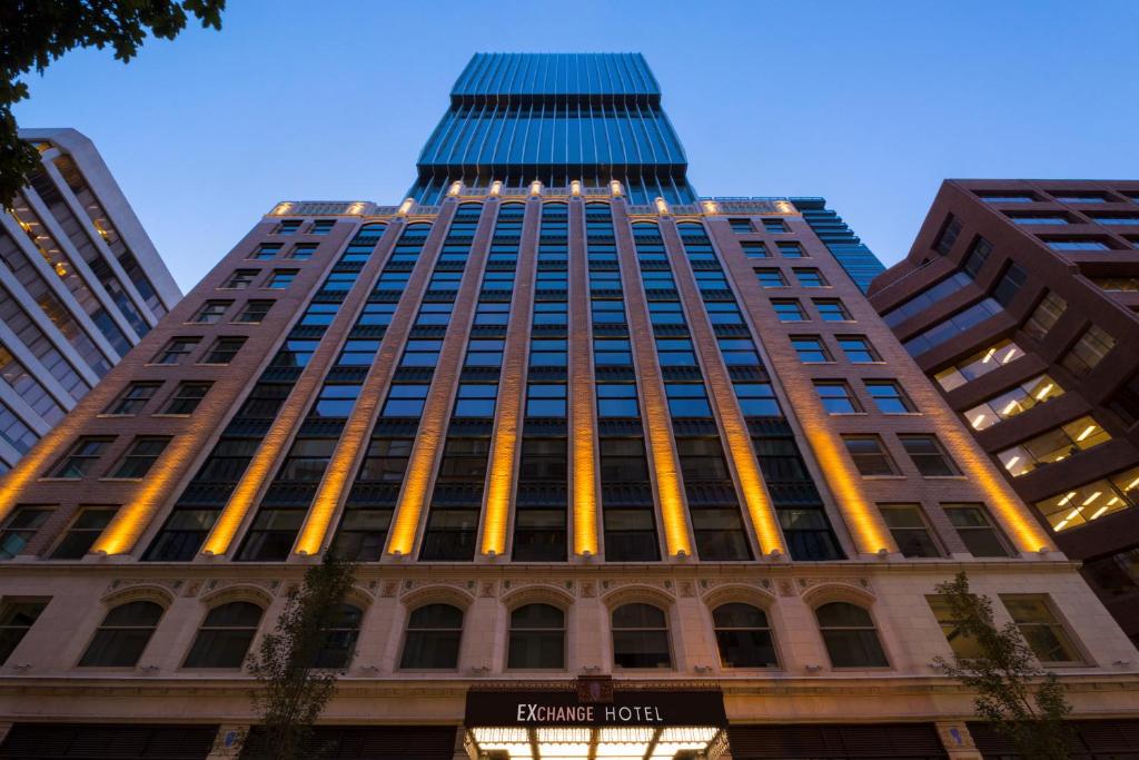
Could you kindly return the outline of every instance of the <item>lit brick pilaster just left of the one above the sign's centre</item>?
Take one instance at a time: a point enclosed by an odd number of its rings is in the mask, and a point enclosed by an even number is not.
[[[498,420],[491,440],[491,471],[486,481],[486,507],[480,542],[482,554],[487,556],[506,554],[510,496],[514,492],[514,463],[518,451],[518,420],[526,387],[530,320],[534,303],[534,270],[538,260],[535,227],[541,212],[540,203],[526,204],[518,245],[515,295],[507,325],[506,357],[499,381]]]

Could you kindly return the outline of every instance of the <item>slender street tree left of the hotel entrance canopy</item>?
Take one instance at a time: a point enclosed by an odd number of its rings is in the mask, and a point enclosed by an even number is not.
[[[318,659],[354,580],[355,565],[326,553],[305,571],[301,587],[289,589],[273,632],[249,655],[247,668],[259,686],[253,703],[262,721],[260,737],[273,760],[301,757],[336,688],[337,671],[318,667]]]

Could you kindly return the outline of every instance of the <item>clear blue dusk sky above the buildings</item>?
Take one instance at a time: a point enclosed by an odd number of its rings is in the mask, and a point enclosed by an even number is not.
[[[948,177],[1139,178],[1139,2],[230,0],[16,109],[95,140],[183,289],[280,199],[398,203],[474,51],[641,51],[702,195],[821,195],[887,264]]]

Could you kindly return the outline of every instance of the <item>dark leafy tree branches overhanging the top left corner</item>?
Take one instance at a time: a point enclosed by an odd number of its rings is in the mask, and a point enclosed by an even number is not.
[[[75,48],[110,46],[128,63],[147,34],[173,40],[186,27],[187,14],[203,27],[221,28],[226,0],[5,0],[0,2],[0,205],[39,167],[39,155],[19,139],[11,107],[27,97],[18,77],[35,67],[43,73]]]

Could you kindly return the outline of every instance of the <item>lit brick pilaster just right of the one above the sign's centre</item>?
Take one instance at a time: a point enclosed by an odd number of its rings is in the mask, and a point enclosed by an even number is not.
[[[616,180],[614,180],[616,182]],[[688,508],[680,484],[680,465],[672,447],[672,417],[664,395],[664,381],[656,360],[656,348],[649,336],[653,329],[648,321],[648,301],[641,285],[637,247],[628,226],[625,205],[612,203],[613,227],[617,240],[617,259],[621,262],[621,283],[625,293],[625,309],[629,316],[629,335],[636,356],[637,375],[640,381],[641,404],[648,450],[656,475],[657,500],[661,505],[661,522],[664,528],[664,544],[669,556],[681,553],[693,554],[691,532],[688,526]],[[640,340],[638,340],[638,336]]]

